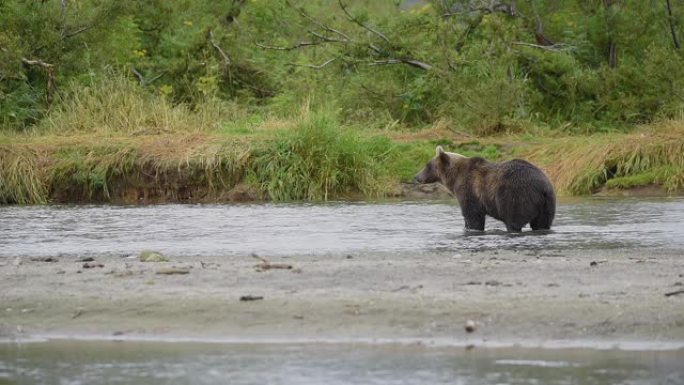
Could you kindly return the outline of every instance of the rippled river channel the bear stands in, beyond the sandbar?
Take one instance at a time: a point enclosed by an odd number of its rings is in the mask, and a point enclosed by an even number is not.
[[[0,207],[0,257],[684,248],[684,199],[559,204],[550,233],[465,233],[452,202]]]

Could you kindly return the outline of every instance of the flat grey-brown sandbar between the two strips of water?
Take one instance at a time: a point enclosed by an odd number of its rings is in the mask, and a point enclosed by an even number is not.
[[[0,260],[0,334],[684,344],[684,252]],[[592,263],[596,262],[596,263]],[[91,262],[93,263],[93,262]],[[97,265],[96,265],[97,266]],[[188,268],[188,274],[159,270]],[[263,297],[241,301],[242,296]],[[467,320],[476,331],[467,334]]]

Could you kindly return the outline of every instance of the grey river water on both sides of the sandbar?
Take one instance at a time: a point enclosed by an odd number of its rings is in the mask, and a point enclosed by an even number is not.
[[[464,232],[452,202],[0,207],[0,258],[577,248],[683,250],[684,199],[565,201],[551,232],[513,235],[492,219],[484,233]],[[5,384],[674,385],[684,384],[684,350],[4,341]]]

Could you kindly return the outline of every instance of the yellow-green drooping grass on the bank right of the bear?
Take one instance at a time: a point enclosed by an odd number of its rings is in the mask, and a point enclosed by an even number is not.
[[[586,195],[603,186],[659,184],[684,189],[684,124],[667,121],[631,134],[567,137],[545,141],[529,157],[546,165],[564,193]]]

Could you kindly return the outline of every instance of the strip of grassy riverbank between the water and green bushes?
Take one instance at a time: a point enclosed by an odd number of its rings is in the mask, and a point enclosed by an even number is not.
[[[437,144],[494,161],[529,159],[562,195],[648,185],[675,193],[684,187],[683,121],[629,133],[527,130],[474,137],[444,122],[422,130],[345,127],[333,113],[305,108],[290,119],[245,116],[220,127],[171,127],[2,134],[0,202],[391,197],[401,194],[400,184],[410,182]]]

